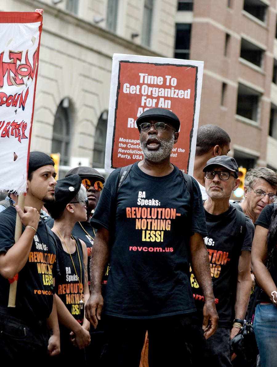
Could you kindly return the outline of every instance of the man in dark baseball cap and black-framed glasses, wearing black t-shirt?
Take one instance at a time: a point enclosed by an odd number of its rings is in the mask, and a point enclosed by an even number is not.
[[[191,333],[193,366],[202,366],[204,359],[208,366],[231,367],[235,355],[230,356],[229,341],[244,324],[250,297],[251,246],[255,228],[251,219],[229,204],[232,191],[240,184],[234,158],[217,156],[209,159],[203,172],[208,194],[208,199],[204,201],[208,230],[205,243],[211,263],[219,323],[211,338],[203,338],[203,294],[191,270],[191,286],[197,308]]]

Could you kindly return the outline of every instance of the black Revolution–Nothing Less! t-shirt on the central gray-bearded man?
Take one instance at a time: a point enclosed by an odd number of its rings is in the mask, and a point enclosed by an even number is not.
[[[153,177],[135,163],[117,193],[119,173],[109,175],[91,219],[112,241],[104,313],[146,319],[193,312],[189,241],[194,232],[207,235],[197,182],[191,210],[177,167]]]

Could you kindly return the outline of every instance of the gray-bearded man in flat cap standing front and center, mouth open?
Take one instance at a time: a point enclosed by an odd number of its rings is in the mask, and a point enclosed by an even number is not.
[[[177,366],[181,360],[191,366],[189,334],[195,306],[190,264],[205,295],[204,338],[215,332],[218,321],[203,240],[207,233],[202,197],[193,179],[191,200],[182,173],[170,163],[179,137],[178,117],[153,108],[141,114],[137,126],[144,159],[133,164],[119,189],[120,168],[111,173],[91,219],[98,230],[86,316],[96,328],[110,258],[103,308],[108,344],[101,366],[137,367],[146,331],[150,367]]]

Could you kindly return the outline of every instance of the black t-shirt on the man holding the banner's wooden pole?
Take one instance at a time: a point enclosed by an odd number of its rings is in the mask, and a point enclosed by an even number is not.
[[[0,214],[0,253],[14,245],[16,210],[8,207]],[[24,232],[25,226],[22,228]],[[20,256],[20,254],[18,254]],[[48,266],[50,270],[48,270]],[[57,244],[52,231],[40,220],[34,235],[29,259],[18,273],[15,310],[18,318],[46,319],[53,307],[53,292],[50,284],[57,277]],[[10,283],[0,275],[0,306],[8,306]],[[17,311],[15,311],[15,317]]]

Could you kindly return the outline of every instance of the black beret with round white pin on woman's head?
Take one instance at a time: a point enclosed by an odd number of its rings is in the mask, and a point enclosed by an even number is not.
[[[57,181],[55,186],[55,201],[44,204],[52,217],[57,217],[66,207],[66,204],[79,192],[82,179],[79,175],[72,175]]]

